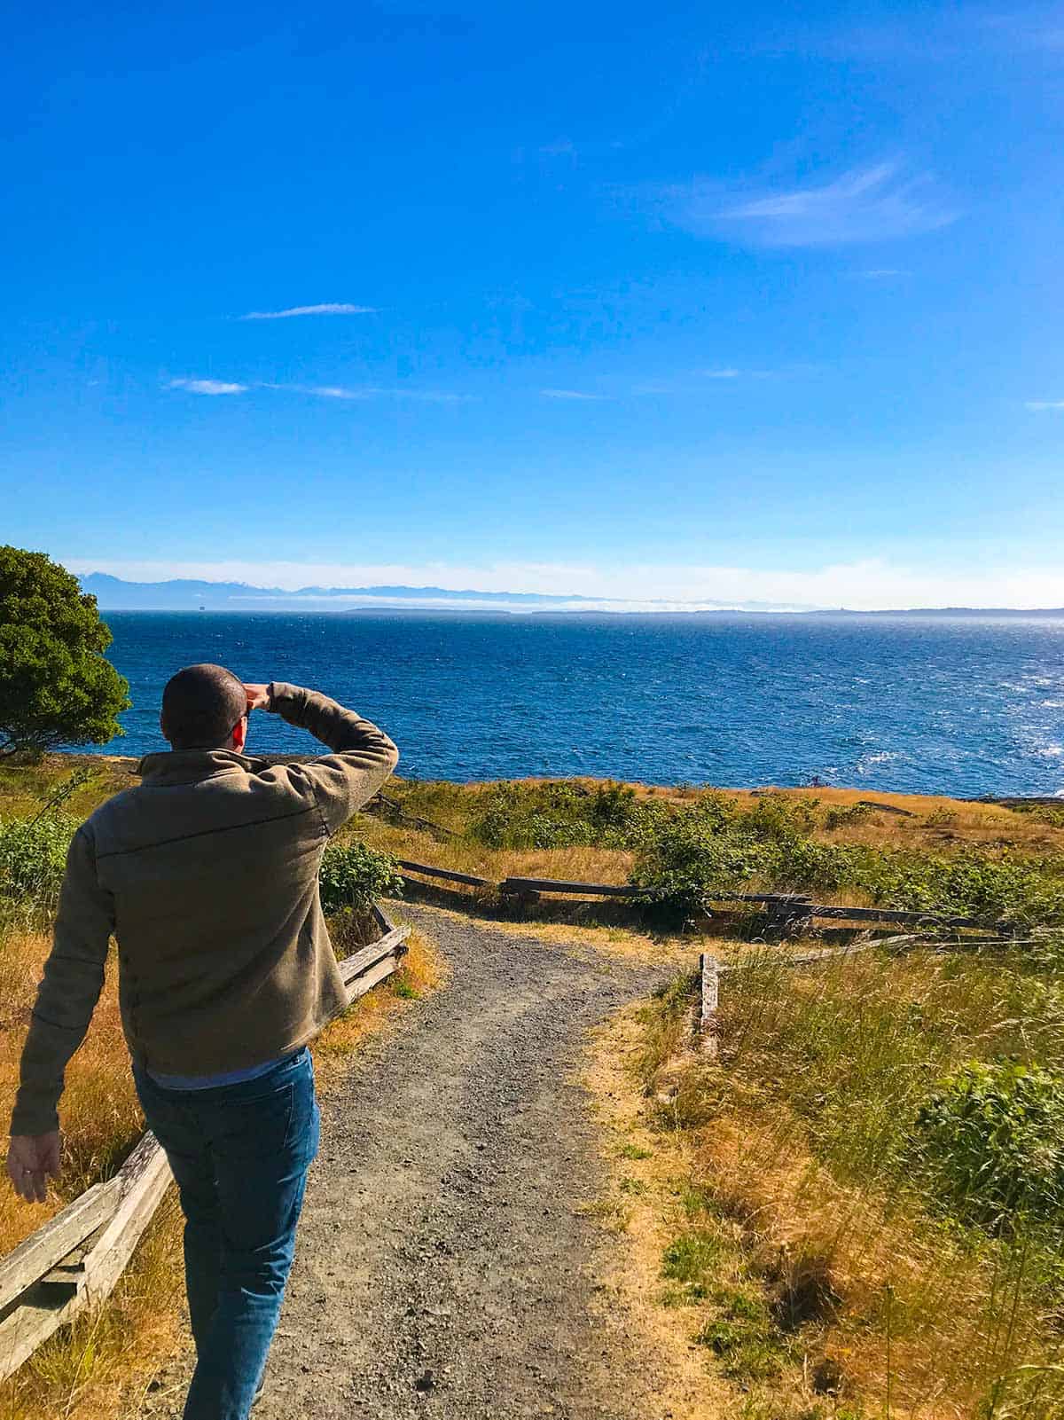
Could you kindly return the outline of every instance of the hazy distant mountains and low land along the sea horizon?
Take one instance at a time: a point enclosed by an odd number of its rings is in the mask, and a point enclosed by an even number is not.
[[[724,612],[803,612],[811,616],[1057,616],[1064,608],[1017,611],[1007,606],[919,606],[897,611],[854,612],[846,608],[787,606],[773,602],[611,601],[596,596],[559,596],[542,592],[451,591],[445,586],[253,586],[248,582],[209,582],[177,578],[167,582],[125,582],[106,572],[87,572],[79,582],[92,592],[101,611],[380,611],[380,612],[606,612],[641,615],[702,615]]]

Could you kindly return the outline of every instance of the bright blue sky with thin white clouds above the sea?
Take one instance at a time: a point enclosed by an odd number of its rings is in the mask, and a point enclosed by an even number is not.
[[[1064,9],[9,17],[4,540],[1064,602]]]

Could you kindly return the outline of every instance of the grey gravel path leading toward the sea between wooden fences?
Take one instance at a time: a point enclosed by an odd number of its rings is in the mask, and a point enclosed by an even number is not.
[[[667,1414],[587,1216],[606,1177],[572,1078],[667,968],[406,910],[450,978],[325,1105],[255,1420]],[[180,1414],[187,1366],[143,1416]]]

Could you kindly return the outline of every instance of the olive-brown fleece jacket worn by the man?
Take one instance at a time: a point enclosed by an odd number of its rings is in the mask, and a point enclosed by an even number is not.
[[[268,709],[333,753],[272,767],[231,750],[149,754],[142,782],[74,835],[11,1133],[58,1127],[64,1072],[99,998],[112,934],[129,1051],[163,1075],[262,1064],[346,1007],[318,868],[399,751],[314,690],[274,682]]]

